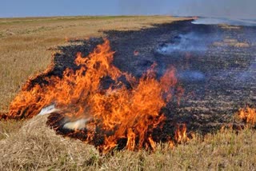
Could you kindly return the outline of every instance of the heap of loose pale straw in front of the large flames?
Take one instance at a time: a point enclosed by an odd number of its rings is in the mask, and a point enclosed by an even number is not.
[[[90,145],[55,135],[46,127],[46,117],[27,121],[0,145],[0,170],[75,169],[86,165],[91,157],[98,157]]]

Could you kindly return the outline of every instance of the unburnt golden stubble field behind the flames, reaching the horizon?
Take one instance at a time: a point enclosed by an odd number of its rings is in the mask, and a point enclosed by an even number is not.
[[[53,46],[67,39],[102,36],[103,30],[138,30],[150,23],[170,22],[169,17],[66,17],[0,18],[0,112],[31,75],[50,64]]]

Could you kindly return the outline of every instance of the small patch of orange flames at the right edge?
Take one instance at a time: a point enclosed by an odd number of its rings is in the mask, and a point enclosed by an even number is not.
[[[242,119],[242,121],[254,125],[256,123],[256,109],[250,107],[240,109],[238,117]]]

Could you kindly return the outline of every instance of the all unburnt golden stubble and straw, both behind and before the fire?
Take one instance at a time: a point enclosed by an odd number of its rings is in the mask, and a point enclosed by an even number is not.
[[[150,24],[186,18],[152,17],[56,17],[0,19],[0,113],[27,78],[50,64],[49,50],[70,39],[104,36],[106,30],[139,30]],[[237,43],[237,42],[235,42]],[[233,44],[232,44],[233,45]],[[236,46],[236,44],[234,45]],[[101,156],[93,146],[55,134],[46,117],[28,121],[0,121],[1,170],[254,170],[256,133],[225,129],[170,149],[158,145],[154,153],[114,151]]]

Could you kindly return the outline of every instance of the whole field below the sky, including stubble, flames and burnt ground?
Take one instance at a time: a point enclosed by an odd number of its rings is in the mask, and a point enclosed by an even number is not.
[[[254,170],[254,26],[44,19],[1,25],[1,170]]]

